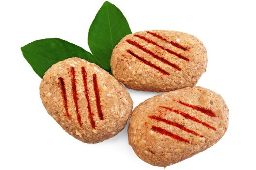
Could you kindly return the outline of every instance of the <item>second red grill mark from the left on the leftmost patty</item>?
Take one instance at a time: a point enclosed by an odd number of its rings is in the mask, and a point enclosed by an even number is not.
[[[74,100],[74,105],[75,105],[75,113],[76,113],[76,119],[79,123],[80,126],[82,126],[82,121],[81,121],[81,116],[79,114],[79,110],[78,110],[78,97],[77,97],[77,91],[76,91],[76,80],[75,80],[75,70],[73,67],[71,67],[70,69],[71,71],[71,82],[72,82],[72,93],[73,93],[73,100]]]

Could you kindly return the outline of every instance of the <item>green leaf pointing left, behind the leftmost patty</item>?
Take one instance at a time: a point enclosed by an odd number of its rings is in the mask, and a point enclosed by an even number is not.
[[[21,51],[25,59],[41,78],[53,64],[70,57],[80,57],[98,64],[90,52],[59,38],[34,41],[21,47]]]

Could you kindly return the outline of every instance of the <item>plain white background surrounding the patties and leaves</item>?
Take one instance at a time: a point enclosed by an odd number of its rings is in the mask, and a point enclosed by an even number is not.
[[[89,51],[87,34],[103,0],[0,1],[0,170],[163,170],[140,160],[127,127],[98,144],[69,136],[39,97],[40,77],[20,47],[59,37]],[[208,54],[197,85],[221,94],[229,128],[213,147],[167,170],[256,170],[256,5],[249,0],[111,0],[132,32],[162,29],[197,36]],[[128,90],[134,107],[152,92]]]

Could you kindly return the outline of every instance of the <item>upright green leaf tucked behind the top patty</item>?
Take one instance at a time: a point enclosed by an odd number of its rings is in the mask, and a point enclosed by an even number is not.
[[[125,16],[115,5],[108,1],[104,2],[88,33],[88,45],[102,68],[111,70],[112,51],[127,34],[131,34],[131,30]]]

